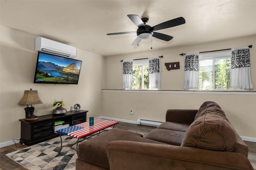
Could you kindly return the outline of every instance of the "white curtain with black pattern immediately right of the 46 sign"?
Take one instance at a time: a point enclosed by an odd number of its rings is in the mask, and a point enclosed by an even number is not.
[[[184,66],[184,89],[198,90],[199,53],[186,54]]]

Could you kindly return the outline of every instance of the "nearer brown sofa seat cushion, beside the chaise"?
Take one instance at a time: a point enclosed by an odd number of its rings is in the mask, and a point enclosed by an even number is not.
[[[172,131],[168,129],[153,129],[145,136],[147,139],[166,143],[169,145],[180,146],[185,132]]]

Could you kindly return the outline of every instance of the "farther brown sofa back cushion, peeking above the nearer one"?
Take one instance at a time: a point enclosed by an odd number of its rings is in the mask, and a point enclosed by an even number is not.
[[[226,117],[225,112],[221,109],[220,105],[215,102],[204,102],[198,109],[194,120],[206,113],[222,114]]]

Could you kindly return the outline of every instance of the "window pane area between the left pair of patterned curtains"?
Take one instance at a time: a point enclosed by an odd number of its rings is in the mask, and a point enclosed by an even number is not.
[[[132,89],[148,89],[148,61],[134,61]]]

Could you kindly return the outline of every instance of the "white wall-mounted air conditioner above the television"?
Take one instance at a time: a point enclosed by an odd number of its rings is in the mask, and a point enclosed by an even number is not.
[[[43,37],[35,38],[35,51],[42,51],[68,58],[76,57],[76,47],[52,41]]]

